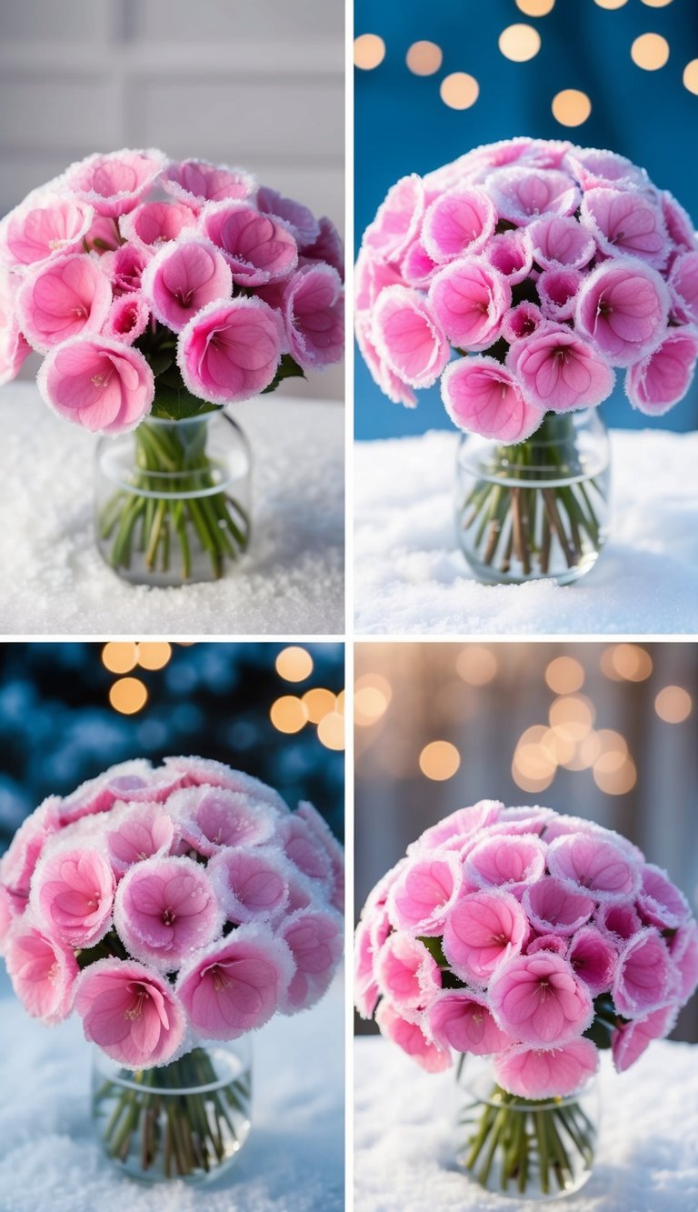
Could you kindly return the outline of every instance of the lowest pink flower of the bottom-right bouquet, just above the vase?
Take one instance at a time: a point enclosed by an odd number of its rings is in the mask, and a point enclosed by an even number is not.
[[[519,1044],[494,1058],[498,1085],[520,1098],[576,1094],[597,1068],[599,1053],[590,1040],[572,1040],[553,1048]]]

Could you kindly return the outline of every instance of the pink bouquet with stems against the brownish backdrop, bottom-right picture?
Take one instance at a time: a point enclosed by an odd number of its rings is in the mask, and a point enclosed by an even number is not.
[[[465,1165],[482,1184],[496,1166],[503,1190],[573,1184],[593,1157],[577,1098],[597,1050],[628,1069],[697,984],[698,925],[666,873],[550,808],[484,800],[427,829],[356,933],[362,1017],[429,1073],[453,1052],[493,1058]]]

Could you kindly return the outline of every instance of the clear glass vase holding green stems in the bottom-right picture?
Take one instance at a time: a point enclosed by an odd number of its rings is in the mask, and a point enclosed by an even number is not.
[[[490,1062],[468,1058],[459,1079],[459,1165],[487,1191],[545,1202],[591,1176],[600,1122],[595,1079],[567,1098],[509,1094]]]

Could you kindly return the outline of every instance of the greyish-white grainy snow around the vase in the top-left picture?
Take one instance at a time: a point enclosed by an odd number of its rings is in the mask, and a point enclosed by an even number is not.
[[[121,582],[93,537],[96,439],[33,383],[0,390],[0,633],[321,635],[344,630],[344,416],[264,396],[235,407],[252,446],[240,572],[184,589]]]

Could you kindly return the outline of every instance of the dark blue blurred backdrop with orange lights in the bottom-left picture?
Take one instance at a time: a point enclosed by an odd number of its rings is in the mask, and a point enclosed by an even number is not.
[[[0,852],[50,794],[198,754],[344,824],[341,644],[0,645]]]

